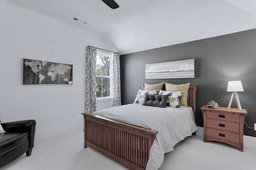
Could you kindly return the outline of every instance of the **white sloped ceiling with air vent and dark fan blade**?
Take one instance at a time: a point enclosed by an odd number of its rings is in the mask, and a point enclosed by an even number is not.
[[[115,0],[117,9],[101,0],[6,1],[98,33],[120,55],[256,28],[255,0]]]

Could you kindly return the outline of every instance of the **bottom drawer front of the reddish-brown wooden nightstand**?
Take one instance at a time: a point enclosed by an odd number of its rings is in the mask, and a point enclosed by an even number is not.
[[[220,130],[215,130],[215,129],[210,129],[210,128],[207,128],[206,131],[207,131],[208,137],[214,137],[214,138],[225,140],[225,141],[239,143],[239,134],[238,133],[220,131]]]

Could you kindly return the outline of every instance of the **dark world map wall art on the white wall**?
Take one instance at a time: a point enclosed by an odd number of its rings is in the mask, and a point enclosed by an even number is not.
[[[22,84],[73,84],[72,64],[22,59]]]

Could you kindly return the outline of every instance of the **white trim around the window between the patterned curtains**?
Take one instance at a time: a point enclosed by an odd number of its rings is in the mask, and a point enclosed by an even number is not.
[[[96,100],[100,101],[100,100],[109,100],[110,99],[109,101],[113,101],[113,98],[114,98],[114,96],[113,96],[113,55],[114,55],[114,53],[98,49],[97,55],[103,55],[106,57],[110,57],[110,76],[106,76],[106,77],[110,77],[110,96],[97,97]],[[104,76],[100,76],[100,77],[104,77]]]

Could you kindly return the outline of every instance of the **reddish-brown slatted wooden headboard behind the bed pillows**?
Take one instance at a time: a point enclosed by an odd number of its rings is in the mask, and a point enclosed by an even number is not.
[[[192,107],[194,117],[196,120],[196,89],[197,89],[198,84],[190,84],[188,88],[188,106]],[[142,84],[142,90],[144,90],[145,84]],[[162,90],[166,90],[165,84],[163,86]]]

